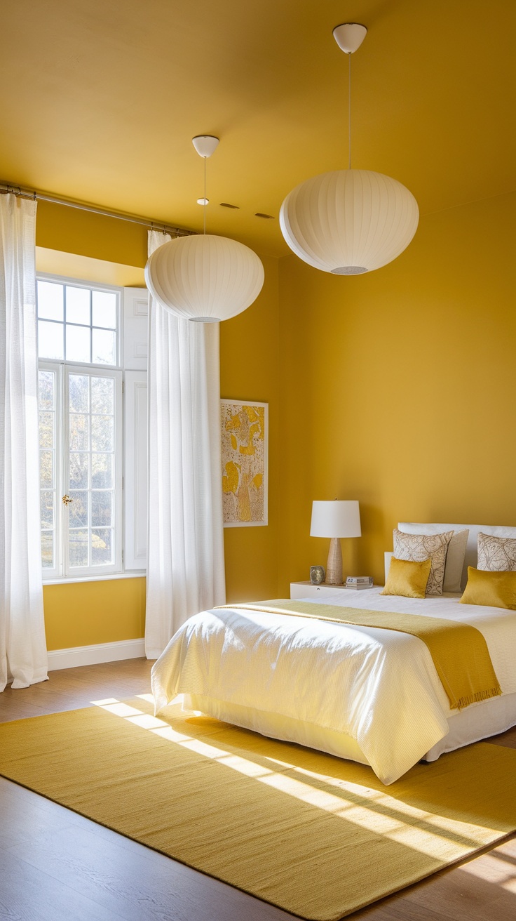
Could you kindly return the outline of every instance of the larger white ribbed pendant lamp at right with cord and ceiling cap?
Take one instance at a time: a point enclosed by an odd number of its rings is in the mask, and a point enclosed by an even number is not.
[[[367,29],[356,22],[333,29],[350,56]],[[349,119],[350,119],[349,97]],[[281,233],[300,259],[322,272],[358,275],[380,269],[403,252],[416,233],[419,208],[401,182],[370,169],[322,173],[292,189],[281,204]]]

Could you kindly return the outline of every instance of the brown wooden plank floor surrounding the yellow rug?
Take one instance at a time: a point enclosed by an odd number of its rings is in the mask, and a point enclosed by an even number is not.
[[[150,663],[52,671],[0,694],[0,722],[149,692]],[[516,729],[494,740],[516,748]],[[516,783],[516,778],[515,778]],[[336,872],[339,868],[336,867]],[[372,867],[372,873],[374,868]],[[0,777],[0,919],[287,921],[293,915],[109,832]],[[516,840],[443,870],[353,921],[515,921]]]

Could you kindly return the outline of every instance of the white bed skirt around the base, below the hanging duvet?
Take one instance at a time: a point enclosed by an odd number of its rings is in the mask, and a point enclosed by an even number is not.
[[[201,694],[183,694],[183,709],[197,710],[209,717],[221,719],[243,729],[252,729],[263,736],[297,742],[307,748],[347,758],[359,764],[369,764],[358,742],[343,732],[324,729],[277,713],[255,710],[253,707],[229,704],[224,700]],[[504,694],[466,707],[448,718],[450,731],[437,742],[423,761],[437,761],[444,752],[453,752],[499,732],[516,726],[516,694]]]

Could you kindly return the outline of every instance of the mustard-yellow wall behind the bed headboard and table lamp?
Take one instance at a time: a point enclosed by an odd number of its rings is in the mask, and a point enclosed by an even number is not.
[[[369,275],[280,262],[280,594],[326,564],[313,499],[359,499],[344,568],[398,520],[516,523],[515,196],[425,216]]]

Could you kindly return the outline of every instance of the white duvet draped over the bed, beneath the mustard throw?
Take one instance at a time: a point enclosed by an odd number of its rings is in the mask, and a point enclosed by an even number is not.
[[[379,592],[336,590],[324,603],[471,624],[486,638],[502,693],[516,693],[516,612]],[[346,733],[384,784],[441,740],[457,712],[416,636],[231,608],[190,617],[155,662],[152,686],[156,713],[177,694],[202,695]]]

